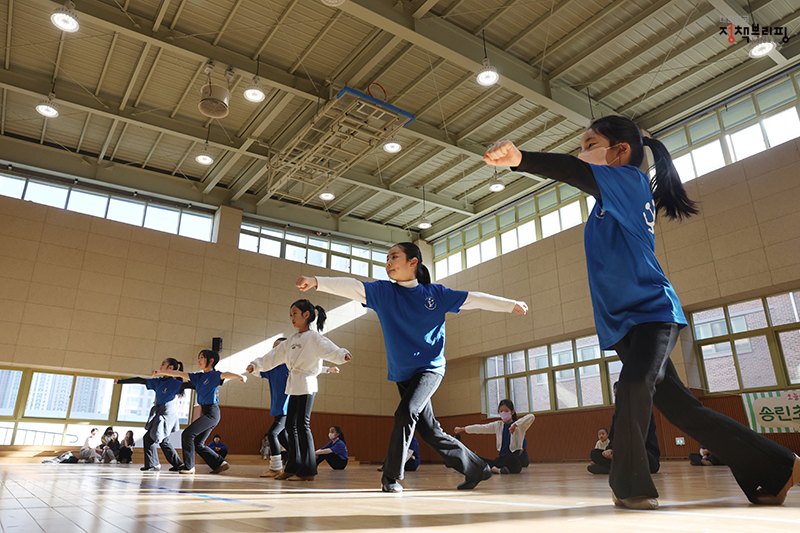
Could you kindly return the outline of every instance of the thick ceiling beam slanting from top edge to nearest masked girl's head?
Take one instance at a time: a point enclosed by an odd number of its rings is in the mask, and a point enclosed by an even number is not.
[[[340,9],[465,70],[477,72],[483,66],[481,39],[440,17],[414,19],[396,11],[390,0],[348,0]],[[569,87],[550,87],[546,81],[534,79],[535,72],[530,65],[491,48],[492,65],[503,73],[499,82],[502,87],[576,124],[589,124],[589,109],[580,93]],[[604,112],[614,111],[606,109]]]

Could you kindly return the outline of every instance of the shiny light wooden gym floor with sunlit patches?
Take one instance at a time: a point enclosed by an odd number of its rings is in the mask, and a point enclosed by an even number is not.
[[[221,475],[143,473],[140,465],[2,464],[3,532],[352,531],[798,531],[800,487],[780,507],[750,505],[723,466],[662,463],[661,508],[615,509],[607,476],[587,463],[534,464],[494,476],[473,491],[463,477],[423,464],[405,492],[380,492],[376,465],[320,467],[313,482],[262,480],[265,467],[233,465]]]

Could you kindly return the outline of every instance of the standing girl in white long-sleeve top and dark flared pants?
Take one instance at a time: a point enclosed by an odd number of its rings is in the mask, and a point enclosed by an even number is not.
[[[319,390],[317,375],[323,371],[323,359],[342,364],[352,356],[346,349],[339,348],[309,328],[316,320],[317,330],[322,331],[327,318],[322,307],[314,306],[308,300],[297,300],[292,304],[289,316],[297,333],[251,362],[247,371],[252,374],[286,364],[289,369],[286,380],[286,394],[289,396],[286,413],[289,458],[283,472],[274,479],[313,481],[317,475],[317,460],[310,423],[314,396]]]

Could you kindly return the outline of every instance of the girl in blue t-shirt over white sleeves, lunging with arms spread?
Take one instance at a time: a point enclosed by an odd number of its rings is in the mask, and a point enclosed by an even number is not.
[[[422,253],[410,242],[392,246],[386,258],[386,273],[392,281],[364,283],[352,278],[300,277],[296,286],[303,291],[316,288],[350,298],[378,315],[386,342],[389,379],[397,383],[401,396],[383,462],[381,490],[403,490],[397,480],[403,479],[406,450],[415,428],[445,464],[466,476],[458,488],[473,489],[492,476],[491,470],[480,457],[442,431],[431,407],[431,396],[439,388],[445,370],[445,315],[467,309],[524,315],[528,306],[431,283],[428,269],[422,264]]]

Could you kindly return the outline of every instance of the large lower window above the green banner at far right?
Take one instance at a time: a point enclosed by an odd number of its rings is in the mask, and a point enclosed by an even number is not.
[[[711,393],[800,382],[800,292],[692,313],[704,387]]]

